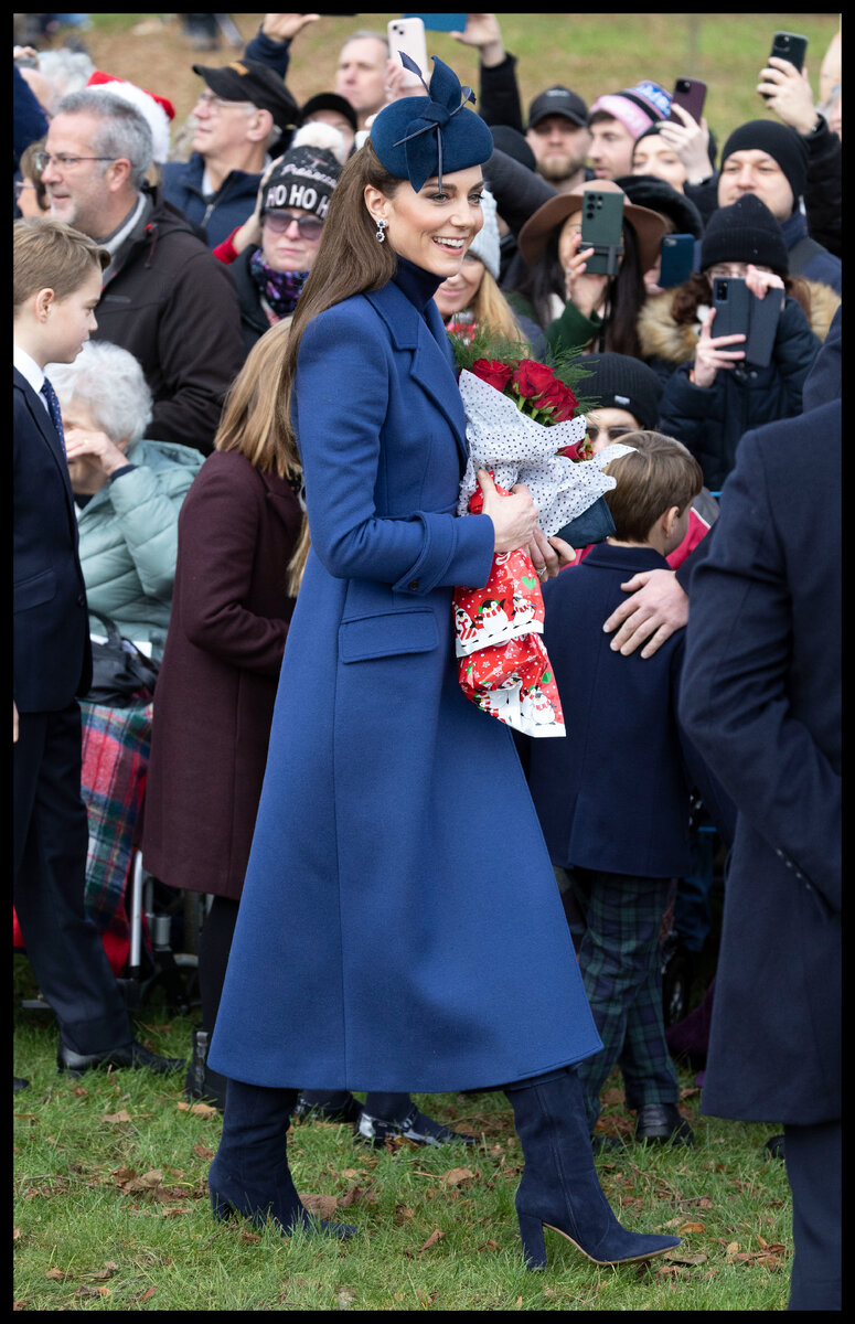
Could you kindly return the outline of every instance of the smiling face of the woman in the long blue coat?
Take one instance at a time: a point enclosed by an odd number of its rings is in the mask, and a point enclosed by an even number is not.
[[[409,180],[401,180],[392,197],[368,187],[365,205],[375,221],[388,222],[388,240],[400,257],[447,279],[459,271],[484,222],[483,189],[480,166],[472,166],[443,175],[442,192],[435,177],[418,193]]]

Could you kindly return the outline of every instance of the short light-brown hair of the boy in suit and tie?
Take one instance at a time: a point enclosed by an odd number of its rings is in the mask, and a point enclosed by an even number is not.
[[[24,217],[15,222],[15,269],[12,299],[17,311],[40,290],[53,290],[68,299],[83,281],[110,262],[110,254],[89,234],[81,234],[52,216]]]

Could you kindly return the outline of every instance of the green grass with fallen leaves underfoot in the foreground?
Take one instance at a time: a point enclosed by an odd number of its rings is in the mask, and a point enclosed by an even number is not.
[[[15,957],[15,981],[32,973]],[[192,1021],[155,1001],[140,1039],[188,1053]],[[784,1164],[764,1161],[769,1127],[698,1115],[682,1072],[694,1149],[630,1145],[598,1160],[626,1226],[683,1237],[672,1259],[600,1268],[547,1234],[545,1274],[527,1272],[514,1194],[521,1152],[503,1095],[435,1095],[422,1107],[475,1132],[474,1149],[409,1143],[375,1153],[349,1128],[290,1132],[298,1189],[323,1217],[351,1222],[347,1245],[216,1225],[206,1172],[220,1115],[188,1108],[183,1075],[60,1076],[49,1013],[16,1012],[15,1308],[29,1311],[777,1311],[791,1254]],[[629,1128],[617,1078],[605,1127]]]

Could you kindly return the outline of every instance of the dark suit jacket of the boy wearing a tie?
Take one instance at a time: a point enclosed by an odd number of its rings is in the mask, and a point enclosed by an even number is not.
[[[58,712],[91,683],[77,516],[62,442],[17,369],[13,402],[15,702]]]

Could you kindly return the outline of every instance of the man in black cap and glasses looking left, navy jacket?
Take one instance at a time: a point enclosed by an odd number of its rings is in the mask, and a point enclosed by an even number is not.
[[[278,74],[251,60],[193,65],[193,73],[205,86],[193,107],[192,155],[164,166],[163,196],[213,249],[253,214],[270,152],[290,140],[299,107]]]

